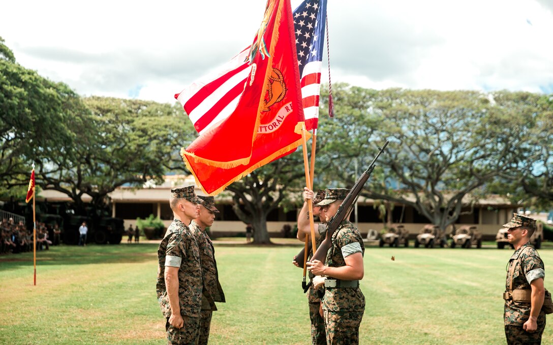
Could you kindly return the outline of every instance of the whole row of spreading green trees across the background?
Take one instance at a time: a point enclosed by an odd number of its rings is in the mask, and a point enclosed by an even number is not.
[[[321,100],[326,96],[323,90]],[[321,105],[315,189],[351,187],[389,140],[363,192],[387,209],[413,206],[445,229],[489,192],[527,205],[553,203],[553,95],[335,84],[334,100],[335,119],[325,118]],[[2,189],[27,185],[35,162],[40,188],[77,206],[88,194],[101,207],[117,187],[185,171],[178,152],[195,136],[180,105],[81,98],[20,66],[0,38]],[[256,242],[269,242],[271,211],[300,201],[302,159],[298,150],[228,187],[238,217],[254,224]]]

